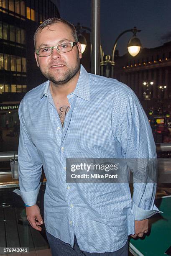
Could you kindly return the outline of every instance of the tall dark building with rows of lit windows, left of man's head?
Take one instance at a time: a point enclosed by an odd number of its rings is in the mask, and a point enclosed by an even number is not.
[[[60,15],[50,0],[0,0],[0,113],[5,115],[0,115],[1,123],[10,119],[9,108],[17,111],[13,104],[45,81],[34,59],[33,35],[51,17]]]

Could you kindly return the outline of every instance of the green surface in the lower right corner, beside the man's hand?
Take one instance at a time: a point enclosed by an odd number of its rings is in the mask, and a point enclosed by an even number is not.
[[[150,218],[147,236],[130,239],[130,248],[140,256],[166,256],[171,246],[171,196],[156,199],[155,204],[164,213]]]

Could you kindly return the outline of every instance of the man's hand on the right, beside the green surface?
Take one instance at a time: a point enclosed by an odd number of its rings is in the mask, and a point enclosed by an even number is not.
[[[133,238],[142,237],[144,233],[148,232],[148,219],[135,220],[135,234],[131,235]]]

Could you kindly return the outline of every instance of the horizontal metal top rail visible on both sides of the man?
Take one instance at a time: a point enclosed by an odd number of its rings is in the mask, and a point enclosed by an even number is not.
[[[157,152],[171,151],[171,143],[156,143]],[[18,157],[18,152],[9,151],[9,152],[0,152],[0,162],[9,161],[11,158]]]

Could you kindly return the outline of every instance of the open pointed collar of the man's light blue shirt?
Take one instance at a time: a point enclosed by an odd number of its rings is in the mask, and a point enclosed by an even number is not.
[[[45,89],[43,91],[43,94],[41,95],[41,98],[43,96],[49,97],[50,94],[50,81],[48,80],[45,84]],[[77,82],[77,85],[74,89],[74,92],[71,92],[69,95],[67,95],[68,98],[71,97],[71,95],[76,95],[77,97],[80,97],[84,100],[90,99],[90,93],[89,93],[89,74],[84,69],[84,67],[81,65],[79,79]]]

